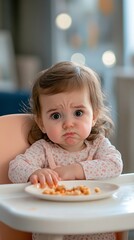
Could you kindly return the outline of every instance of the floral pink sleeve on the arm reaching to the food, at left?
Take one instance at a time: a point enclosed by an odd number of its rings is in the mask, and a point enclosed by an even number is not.
[[[25,183],[30,175],[41,169],[45,163],[44,140],[39,140],[31,145],[24,154],[16,156],[9,163],[8,177],[13,183]]]

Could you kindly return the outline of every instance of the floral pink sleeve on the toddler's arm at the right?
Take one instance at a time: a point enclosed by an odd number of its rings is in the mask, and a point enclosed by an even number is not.
[[[105,179],[121,174],[123,169],[121,154],[107,138],[101,138],[93,152],[89,160],[80,162],[86,179]]]

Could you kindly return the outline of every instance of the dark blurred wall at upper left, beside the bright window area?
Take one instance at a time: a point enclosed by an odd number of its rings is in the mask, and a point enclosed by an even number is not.
[[[0,28],[11,31],[16,55],[51,65],[51,0],[0,0]]]

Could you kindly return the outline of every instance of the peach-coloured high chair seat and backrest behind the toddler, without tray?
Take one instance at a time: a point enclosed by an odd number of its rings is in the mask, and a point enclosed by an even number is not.
[[[8,165],[16,155],[29,147],[27,136],[32,125],[30,114],[0,116],[0,184],[11,183],[8,179]],[[0,240],[31,240],[31,233],[11,229],[0,222]],[[117,233],[116,240],[127,240],[128,232]]]

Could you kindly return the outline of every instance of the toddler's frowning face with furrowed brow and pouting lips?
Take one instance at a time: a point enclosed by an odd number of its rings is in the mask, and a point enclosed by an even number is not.
[[[86,89],[41,95],[41,128],[49,139],[68,151],[79,151],[95,124]]]

